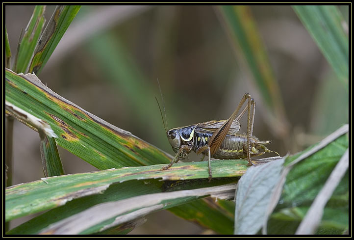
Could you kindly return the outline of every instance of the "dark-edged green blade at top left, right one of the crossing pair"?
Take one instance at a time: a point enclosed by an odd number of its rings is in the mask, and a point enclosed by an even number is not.
[[[34,50],[29,73],[40,73],[81,6],[57,6]]]

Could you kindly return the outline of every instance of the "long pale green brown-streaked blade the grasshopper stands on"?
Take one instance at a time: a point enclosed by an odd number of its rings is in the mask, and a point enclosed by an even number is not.
[[[238,177],[248,168],[245,160],[212,161],[213,177]],[[179,163],[162,171],[164,165],[125,167],[93,173],[45,178],[6,188],[6,221],[65,204],[73,198],[96,194],[112,183],[134,179],[180,180],[208,177],[207,162]]]

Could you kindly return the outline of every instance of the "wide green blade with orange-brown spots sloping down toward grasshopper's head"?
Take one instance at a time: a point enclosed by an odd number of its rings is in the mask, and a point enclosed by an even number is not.
[[[45,120],[57,144],[98,169],[169,163],[170,156],[57,95],[32,74],[6,70],[8,102]]]

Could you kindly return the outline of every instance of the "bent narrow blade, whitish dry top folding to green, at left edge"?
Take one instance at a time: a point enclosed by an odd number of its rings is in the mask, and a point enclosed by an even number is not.
[[[54,137],[58,137],[48,123],[42,119],[36,118],[32,114],[16,107],[6,101],[6,114],[24,122],[39,132],[41,138],[40,150],[42,157],[42,166],[46,177],[58,176],[64,174],[63,165],[61,163],[58,148]]]

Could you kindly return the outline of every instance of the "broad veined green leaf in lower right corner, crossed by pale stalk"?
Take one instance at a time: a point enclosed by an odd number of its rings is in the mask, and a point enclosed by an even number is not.
[[[311,150],[310,147],[304,153]],[[323,149],[296,163],[288,173],[278,206],[268,222],[268,234],[294,234],[314,198],[324,186],[329,174],[348,148],[344,134]],[[300,154],[287,158],[286,163]],[[349,175],[341,180],[324,209],[317,233],[343,232],[348,228]],[[297,220],[294,220],[294,219]],[[278,224],[279,221],[283,221]]]

